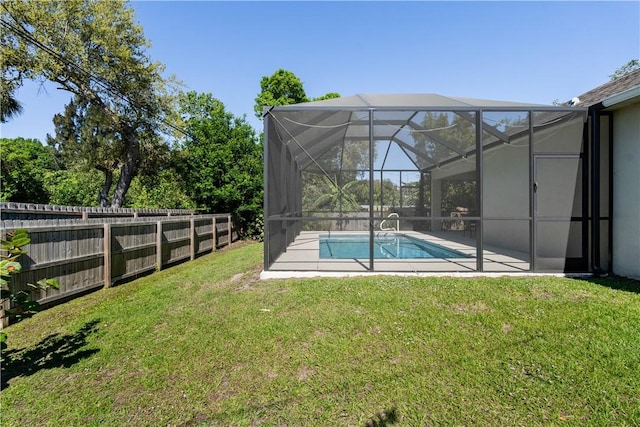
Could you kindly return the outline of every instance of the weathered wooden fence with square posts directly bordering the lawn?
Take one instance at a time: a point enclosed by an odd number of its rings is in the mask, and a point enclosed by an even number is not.
[[[15,284],[57,279],[40,304],[55,304],[229,245],[238,234],[228,214],[89,220],[7,220],[0,233],[24,228],[31,243]]]

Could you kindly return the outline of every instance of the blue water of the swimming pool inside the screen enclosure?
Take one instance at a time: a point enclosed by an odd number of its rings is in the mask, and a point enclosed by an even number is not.
[[[376,234],[375,259],[469,258],[462,252],[404,234]],[[369,258],[368,234],[320,235],[321,259]]]

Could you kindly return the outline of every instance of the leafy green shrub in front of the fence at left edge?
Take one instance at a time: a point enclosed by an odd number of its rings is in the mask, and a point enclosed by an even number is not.
[[[22,264],[17,260],[27,252],[22,248],[31,242],[27,230],[18,229],[8,233],[0,241],[2,253],[0,254],[0,304],[3,307],[2,318],[24,319],[31,317],[40,311],[40,304],[32,299],[32,291],[58,288],[60,285],[55,279],[42,279],[35,284],[28,283],[29,291],[16,289],[11,281],[11,276],[22,270]],[[5,305],[9,304],[8,308]],[[6,333],[0,332],[0,345],[6,347]]]

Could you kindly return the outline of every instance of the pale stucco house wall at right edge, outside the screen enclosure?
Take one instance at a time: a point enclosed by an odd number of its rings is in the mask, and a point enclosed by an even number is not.
[[[613,272],[640,279],[640,103],[613,115]]]

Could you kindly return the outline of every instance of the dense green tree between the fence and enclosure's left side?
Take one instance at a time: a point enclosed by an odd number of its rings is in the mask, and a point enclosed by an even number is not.
[[[180,114],[188,137],[180,153],[187,193],[207,212],[231,212],[245,236],[262,232],[262,145],[244,117],[209,93],[186,93]]]

